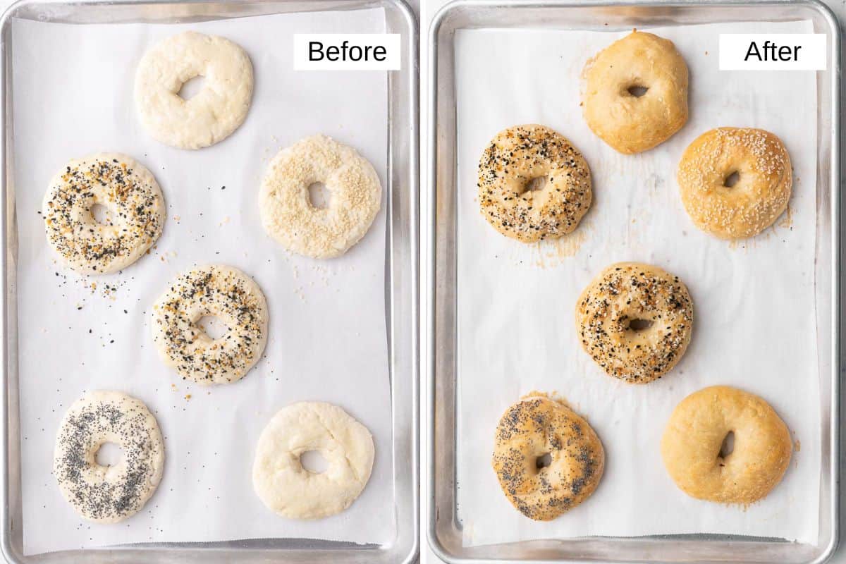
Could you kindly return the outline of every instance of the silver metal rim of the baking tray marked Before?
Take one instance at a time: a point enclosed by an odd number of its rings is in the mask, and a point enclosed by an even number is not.
[[[193,19],[231,19],[292,12],[342,11],[362,8],[385,8],[386,20],[398,26],[403,36],[403,64],[400,71],[388,74],[388,183],[391,186],[387,204],[385,287],[388,304],[386,316],[391,331],[387,334],[392,386],[393,420],[393,485],[395,503],[391,509],[397,515],[396,534],[387,545],[355,545],[348,542],[321,539],[237,539],[217,543],[162,543],[156,545],[122,545],[90,550],[63,550],[40,555],[24,556],[20,546],[14,545],[14,534],[20,533],[9,501],[12,484],[19,478],[19,447],[11,450],[12,437],[19,425],[17,387],[16,319],[16,256],[17,225],[12,188],[13,133],[12,78],[9,61],[11,21],[21,11],[30,8],[49,8],[60,17],[68,18],[88,9],[119,9],[123,19],[107,19],[123,23],[127,19],[164,23],[179,18],[179,23]],[[287,7],[287,9],[283,9]],[[135,14],[134,8],[139,8]],[[141,12],[140,8],[146,8]],[[151,9],[152,8],[152,9]],[[164,13],[171,8],[171,12]],[[188,14],[185,11],[189,12]],[[79,22],[76,22],[79,23]],[[350,562],[392,561],[410,564],[420,551],[420,506],[417,493],[420,485],[420,421],[419,376],[419,29],[415,13],[405,0],[269,0],[250,3],[245,0],[19,0],[0,17],[0,77],[3,79],[3,107],[0,109],[0,269],[2,269],[3,297],[0,299],[0,360],[2,360],[3,388],[0,390],[0,550],[8,562],[134,562],[140,559],[156,561],[280,561],[280,562]],[[399,244],[396,243],[398,237]],[[395,278],[401,276],[404,292],[394,292]],[[406,294],[406,295],[403,295]],[[398,314],[397,309],[402,309]],[[401,325],[397,325],[400,323]],[[401,342],[401,345],[398,344]],[[403,350],[399,352],[398,346]],[[398,366],[398,364],[401,364]],[[397,370],[401,368],[402,370]],[[410,377],[409,377],[410,376]],[[13,388],[14,386],[14,388]],[[403,396],[398,395],[401,391]],[[404,442],[400,442],[404,441]],[[402,447],[398,454],[398,446]],[[13,465],[15,468],[13,468]],[[401,468],[401,469],[398,469]],[[398,484],[398,477],[404,484]],[[18,497],[20,491],[17,491]],[[404,499],[405,494],[407,499]]]

